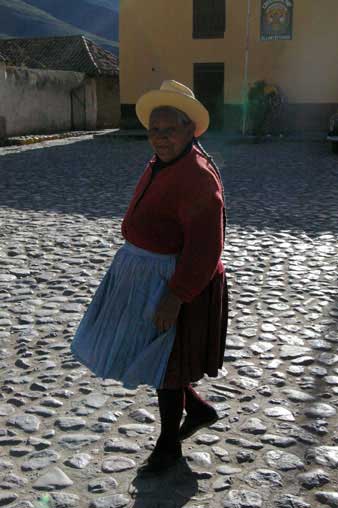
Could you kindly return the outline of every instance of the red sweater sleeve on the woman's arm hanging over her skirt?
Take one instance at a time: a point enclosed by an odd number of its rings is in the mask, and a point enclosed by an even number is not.
[[[223,248],[221,188],[209,174],[204,175],[196,187],[185,193],[179,205],[178,218],[184,243],[168,283],[183,302],[190,302],[208,285]]]

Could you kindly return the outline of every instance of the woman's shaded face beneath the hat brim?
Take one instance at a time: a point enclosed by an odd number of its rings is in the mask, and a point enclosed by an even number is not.
[[[193,139],[195,125],[182,125],[174,111],[154,111],[150,115],[148,137],[163,162],[176,159]]]

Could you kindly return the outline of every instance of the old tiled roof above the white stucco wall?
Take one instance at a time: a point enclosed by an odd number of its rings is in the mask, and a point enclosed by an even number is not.
[[[81,35],[0,39],[0,55],[18,67],[76,71],[89,76],[119,73],[117,58]]]

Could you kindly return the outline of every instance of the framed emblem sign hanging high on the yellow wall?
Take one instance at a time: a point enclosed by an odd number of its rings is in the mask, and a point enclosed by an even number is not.
[[[262,0],[261,40],[292,39],[293,0]]]

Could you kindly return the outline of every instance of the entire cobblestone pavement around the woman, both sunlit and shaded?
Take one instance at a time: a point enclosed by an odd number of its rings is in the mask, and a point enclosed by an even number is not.
[[[79,320],[122,244],[145,141],[0,149],[0,506],[338,506],[338,161],[325,144],[207,148],[224,161],[231,322],[197,389],[220,420],[185,461],[137,475],[153,390],[74,361]]]

